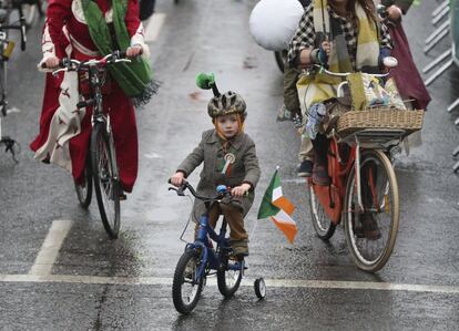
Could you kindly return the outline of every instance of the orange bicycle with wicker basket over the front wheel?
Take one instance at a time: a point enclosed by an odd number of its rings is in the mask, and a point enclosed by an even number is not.
[[[344,79],[349,74],[322,70]],[[338,95],[345,84],[346,81],[338,87]],[[339,121],[349,113],[360,112],[345,113],[338,120],[338,130],[332,130],[327,154],[330,185],[316,185],[308,178],[310,214],[314,229],[323,240],[332,238],[343,220],[355,265],[361,270],[376,272],[386,265],[392,252],[400,217],[399,190],[391,158],[400,151],[404,137],[416,130],[397,124],[394,127],[359,128],[344,136],[339,134]],[[373,116],[389,113],[394,116],[407,113],[418,117],[424,114],[422,111],[377,110],[373,111]]]

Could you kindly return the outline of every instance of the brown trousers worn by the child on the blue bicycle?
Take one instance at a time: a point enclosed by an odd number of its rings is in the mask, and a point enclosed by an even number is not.
[[[215,228],[218,217],[223,215],[230,226],[230,239],[232,241],[247,240],[248,235],[244,228],[244,217],[239,208],[227,204],[213,204],[208,211],[208,224]],[[198,225],[195,228],[197,235]]]

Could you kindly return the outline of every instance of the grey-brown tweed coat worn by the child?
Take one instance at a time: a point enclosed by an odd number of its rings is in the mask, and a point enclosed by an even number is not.
[[[218,169],[218,164],[222,163],[222,159],[218,159],[218,155],[222,156],[224,151],[215,130],[203,133],[201,143],[186,156],[178,166],[177,172],[183,172],[185,177],[187,177],[201,163],[204,163],[196,190],[198,194],[210,197],[216,195],[215,188],[221,184],[230,187],[236,187],[243,183],[251,184],[252,188],[247,196],[232,199],[232,205],[239,207],[245,216],[254,201],[255,187],[261,175],[255,143],[247,134],[242,132],[230,141],[230,152],[235,156],[235,162],[231,165],[230,175],[222,174]],[[195,219],[198,219],[205,213],[205,207],[196,199],[193,210]]]

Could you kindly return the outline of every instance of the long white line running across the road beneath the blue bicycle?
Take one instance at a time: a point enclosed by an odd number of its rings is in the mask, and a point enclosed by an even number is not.
[[[74,275],[0,275],[0,282],[55,282],[84,285],[115,286],[171,286],[172,277],[100,277]],[[370,281],[334,281],[334,280],[302,280],[302,279],[266,279],[267,288],[308,288],[308,289],[341,289],[341,290],[374,290],[374,291],[406,291],[430,292],[441,294],[459,294],[459,287],[431,286],[412,283],[387,283]],[[210,278],[207,286],[216,286],[216,279]],[[254,279],[243,279],[242,286],[253,287]]]

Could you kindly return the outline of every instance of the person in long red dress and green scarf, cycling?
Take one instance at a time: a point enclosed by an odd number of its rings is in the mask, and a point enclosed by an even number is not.
[[[59,66],[60,59],[79,61],[101,59],[114,50],[126,56],[149,49],[143,39],[137,0],[50,0],[42,37],[43,59],[48,69]],[[137,130],[130,99],[147,101],[155,86],[145,59],[136,66],[111,71],[102,87],[103,108],[109,113],[116,148],[116,162],[124,192],[132,192],[137,176]],[[124,76],[124,80],[120,80]],[[129,76],[129,77],[128,77]],[[136,80],[134,84],[132,80]],[[84,182],[84,167],[91,135],[91,108],[76,110],[80,95],[89,91],[88,79],[75,72],[47,74],[40,133],[30,144],[35,158],[69,169],[76,184]]]

